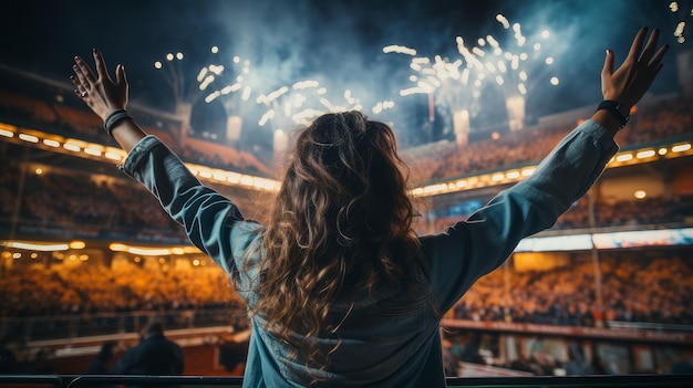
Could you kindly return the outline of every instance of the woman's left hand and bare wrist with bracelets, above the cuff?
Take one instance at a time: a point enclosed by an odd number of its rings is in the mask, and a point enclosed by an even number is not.
[[[74,57],[70,80],[75,86],[74,93],[107,125],[113,138],[130,153],[145,137],[145,133],[127,115],[127,78],[122,64],[115,66],[115,82],[108,75],[106,63],[101,52],[94,49],[96,74],[80,56]]]

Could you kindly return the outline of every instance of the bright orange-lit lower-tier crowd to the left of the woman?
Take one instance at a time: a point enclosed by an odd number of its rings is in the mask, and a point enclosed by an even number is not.
[[[39,260],[3,272],[2,317],[205,310],[240,303],[211,263],[153,269],[122,260],[110,266],[92,262],[46,266]]]

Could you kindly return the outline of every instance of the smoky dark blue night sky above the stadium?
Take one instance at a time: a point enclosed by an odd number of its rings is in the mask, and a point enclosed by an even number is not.
[[[690,0],[680,3],[690,10]],[[554,64],[539,61],[528,72],[527,114],[539,117],[597,104],[604,50],[613,49],[617,61],[622,60],[642,25],[661,28],[661,43],[673,49],[652,92],[675,91],[675,53],[690,50],[691,43],[678,44],[673,31],[680,19],[690,24],[691,15],[685,10],[673,13],[669,4],[668,0],[3,1],[0,64],[68,82],[72,57],[91,60],[91,49],[99,48],[111,70],[118,62],[125,65],[133,104],[172,111],[172,88],[164,72],[154,69],[155,61],[183,52],[185,59],[176,70],[194,88],[201,66],[217,63],[230,69],[232,57],[240,56],[250,61],[251,74],[245,82],[254,93],[248,102],[235,105],[245,117],[248,146],[262,148],[271,141],[270,129],[258,127],[266,107],[255,102],[256,96],[303,80],[319,81],[328,91],[324,97],[335,103],[351,91],[366,114],[392,123],[399,136],[413,144],[445,134],[418,136],[427,112],[425,95],[399,94],[412,86],[412,56],[385,54],[383,46],[403,45],[415,49],[416,56],[437,54],[454,62],[462,57],[456,36],[472,46],[490,34],[504,49],[513,49],[511,30],[503,29],[498,13],[520,23],[528,40],[548,30],[541,60],[550,56]],[[214,45],[219,48],[216,56],[209,51]],[[560,81],[556,86],[549,83],[552,76]],[[456,87],[459,91],[448,87],[446,93],[466,92]],[[394,102],[395,107],[372,113],[382,101]],[[498,87],[482,88],[473,126],[497,124],[496,105],[501,103]],[[205,125],[214,126],[211,122],[220,117],[218,107],[199,112],[207,117]],[[445,106],[436,106],[436,114],[445,115]]]

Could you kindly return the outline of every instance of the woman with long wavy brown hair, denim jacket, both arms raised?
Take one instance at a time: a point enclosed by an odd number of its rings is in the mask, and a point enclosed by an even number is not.
[[[204,187],[127,115],[128,85],[75,57],[75,94],[128,153],[124,172],[180,222],[230,276],[251,313],[244,386],[443,387],[439,322],[525,237],[550,228],[597,180],[618,147],[613,135],[660,71],[659,31],[638,32],[613,70],[604,103],[536,172],[466,222],[417,238],[415,211],[390,127],[348,112],[319,117],[298,137],[266,226]],[[644,46],[644,48],[643,48]]]

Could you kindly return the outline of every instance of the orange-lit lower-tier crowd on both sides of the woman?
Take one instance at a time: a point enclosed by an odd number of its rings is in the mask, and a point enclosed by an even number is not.
[[[608,321],[693,325],[691,264],[676,254],[656,259],[639,251],[601,254],[601,310],[590,260],[576,259],[549,270],[506,265],[482,277],[452,317],[576,326]],[[38,261],[3,272],[1,317],[199,311],[240,303],[211,263],[152,266],[121,260],[110,266],[91,262],[74,266]]]

